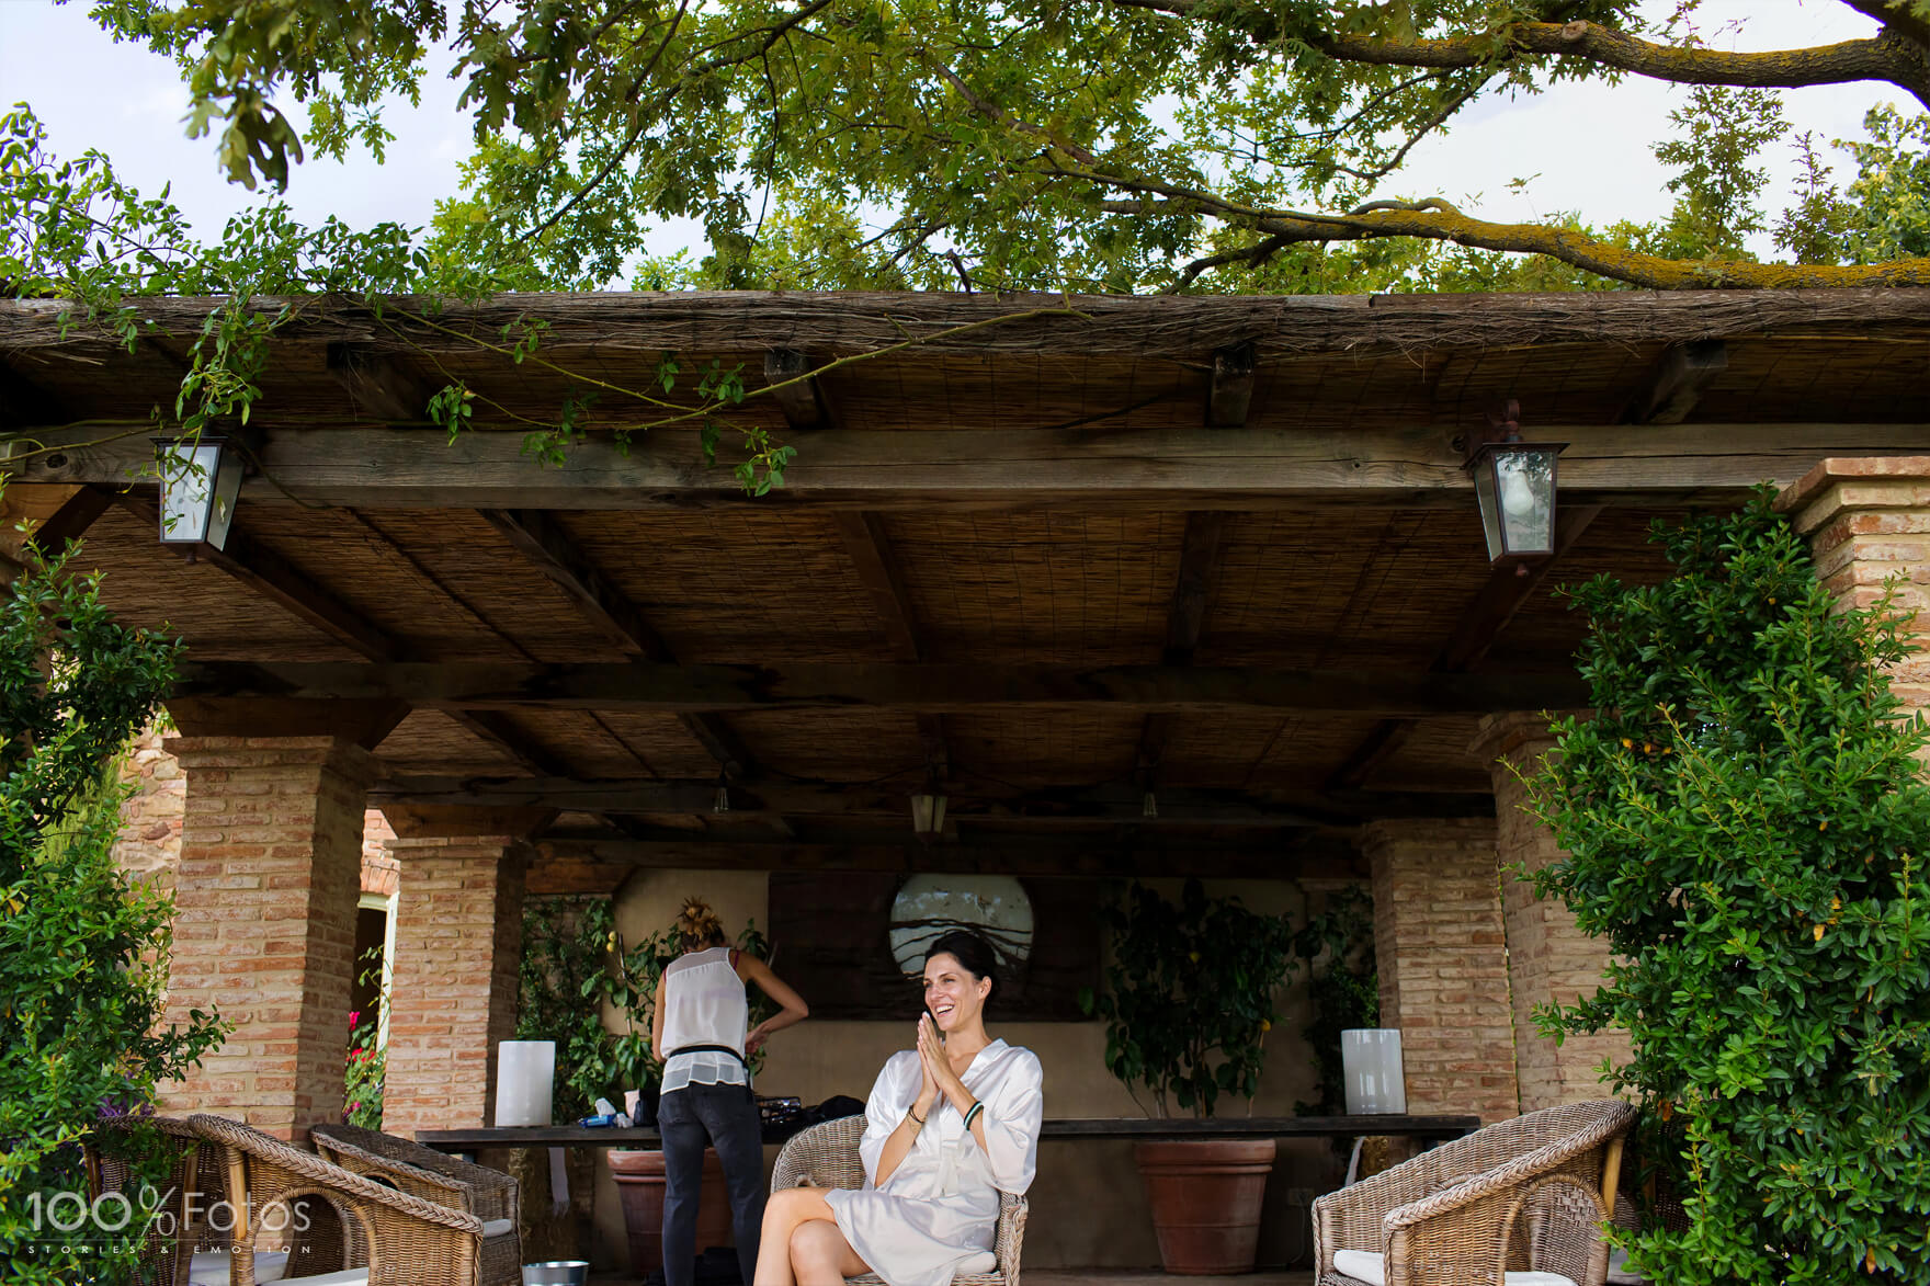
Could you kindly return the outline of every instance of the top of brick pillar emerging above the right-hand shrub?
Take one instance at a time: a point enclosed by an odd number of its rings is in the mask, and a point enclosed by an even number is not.
[[[1889,672],[1907,711],[1930,713],[1930,456],[1824,460],[1776,498],[1810,539],[1816,575],[1843,606],[1870,606],[1901,577],[1916,612],[1913,655]],[[1930,770],[1930,749],[1920,755]]]

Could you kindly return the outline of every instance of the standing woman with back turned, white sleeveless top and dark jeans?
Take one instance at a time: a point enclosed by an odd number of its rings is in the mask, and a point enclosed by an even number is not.
[[[724,1162],[737,1265],[749,1282],[764,1222],[764,1132],[745,1058],[811,1010],[770,965],[728,944],[724,921],[701,898],[685,898],[672,931],[683,956],[664,969],[650,1020],[650,1048],[664,1062],[656,1103],[656,1130],[664,1135],[664,1284],[693,1286],[697,1276],[697,1189],[706,1143]],[[745,983],[757,983],[782,1006],[751,1031]]]

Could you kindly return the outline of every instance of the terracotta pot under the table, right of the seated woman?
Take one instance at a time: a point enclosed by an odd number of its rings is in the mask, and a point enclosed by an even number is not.
[[[1168,1272],[1253,1272],[1274,1139],[1135,1143]]]

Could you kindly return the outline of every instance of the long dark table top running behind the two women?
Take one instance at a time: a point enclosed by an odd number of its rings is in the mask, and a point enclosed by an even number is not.
[[[1393,1133],[1415,1139],[1459,1139],[1480,1128],[1478,1116],[1218,1116],[1212,1120],[1092,1116],[1048,1120],[1042,1139],[1239,1139],[1239,1137],[1353,1137]],[[766,1133],[766,1143],[782,1137]],[[650,1126],[587,1130],[583,1126],[504,1126],[479,1130],[419,1130],[417,1143],[446,1153],[479,1147],[637,1147],[662,1143]]]

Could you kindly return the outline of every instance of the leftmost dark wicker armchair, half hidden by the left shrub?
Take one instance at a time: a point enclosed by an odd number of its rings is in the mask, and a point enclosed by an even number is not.
[[[160,1197],[154,1209],[143,1201],[143,1180],[129,1155],[131,1139],[125,1135],[133,1130],[152,1130],[168,1155],[164,1176],[149,1184]],[[133,1218],[152,1215],[137,1269],[137,1280],[147,1286],[187,1286],[195,1249],[226,1251],[228,1236],[208,1222],[207,1213],[228,1195],[228,1168],[216,1149],[201,1145],[201,1135],[185,1120],[118,1116],[100,1122],[87,1143],[87,1184],[96,1199],[106,1193],[125,1197]]]

